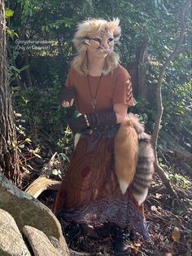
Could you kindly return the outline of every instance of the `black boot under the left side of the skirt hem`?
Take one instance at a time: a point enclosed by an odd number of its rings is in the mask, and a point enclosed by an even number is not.
[[[78,223],[71,223],[64,228],[64,236],[68,245],[78,236],[81,236],[81,227]]]

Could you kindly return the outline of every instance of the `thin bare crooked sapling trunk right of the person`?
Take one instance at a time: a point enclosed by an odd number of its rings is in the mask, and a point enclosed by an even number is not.
[[[161,87],[162,87],[162,82],[163,82],[163,78],[164,78],[165,69],[168,67],[168,64],[170,64],[170,62],[177,55],[178,50],[179,50],[179,48],[181,46],[181,43],[183,41],[184,34],[185,34],[185,19],[184,19],[185,18],[185,11],[186,11],[187,7],[189,7],[189,5],[190,5],[190,0],[186,0],[184,2],[184,4],[182,5],[182,7],[181,7],[181,11],[180,11],[180,15],[179,15],[179,20],[180,20],[180,23],[181,23],[181,31],[180,31],[179,36],[177,38],[177,43],[176,43],[175,49],[168,56],[168,59],[165,60],[162,67],[159,68],[159,77],[158,77],[158,82],[157,82],[157,86],[156,86],[157,116],[155,118],[155,126],[154,126],[154,131],[153,131],[152,139],[151,139],[151,143],[153,145],[153,148],[155,149],[155,170],[159,174],[160,179],[162,179],[165,187],[168,188],[168,191],[172,194],[172,196],[177,196],[177,194],[172,189],[168,178],[164,174],[164,170],[159,166],[158,157],[157,157],[157,139],[158,139],[158,136],[159,136],[159,127],[160,127],[162,115],[163,115],[163,112],[164,112],[164,107],[163,107],[163,103],[162,103],[162,95],[161,95]]]

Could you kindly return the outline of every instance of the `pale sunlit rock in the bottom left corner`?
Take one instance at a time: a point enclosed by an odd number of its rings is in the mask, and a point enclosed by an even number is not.
[[[30,256],[14,218],[0,209],[0,255]]]

